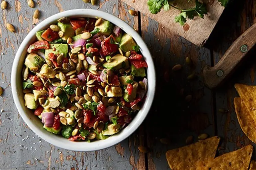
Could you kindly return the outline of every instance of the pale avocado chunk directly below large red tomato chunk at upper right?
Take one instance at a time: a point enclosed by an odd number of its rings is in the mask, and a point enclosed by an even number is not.
[[[120,68],[129,68],[129,62],[126,57],[117,54],[111,58],[111,62],[103,63],[103,67],[117,71]]]

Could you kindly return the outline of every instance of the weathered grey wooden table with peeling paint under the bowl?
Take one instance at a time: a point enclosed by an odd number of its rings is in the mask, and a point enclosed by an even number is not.
[[[207,48],[199,48],[170,34],[143,14],[131,16],[130,7],[118,0],[100,0],[96,6],[82,0],[35,0],[34,9],[28,7],[27,0],[7,1],[8,9],[0,11],[0,86],[4,88],[0,97],[1,170],[165,170],[170,169],[165,152],[184,146],[189,135],[194,136],[194,142],[200,133],[220,136],[218,154],[252,143],[241,131],[234,112],[233,98],[237,94],[233,85],[235,82],[256,84],[255,60],[248,59],[250,62],[245,62],[223,87],[213,91],[204,86],[201,71],[205,65],[216,64],[230,44],[256,21],[256,0],[237,0],[230,4],[209,38]],[[33,23],[75,8],[106,11],[137,29],[153,55],[157,71],[155,101],[143,125],[118,145],[93,152],[68,151],[41,140],[19,116],[11,95],[12,61],[19,44],[35,26]],[[41,11],[39,20],[32,19],[35,9]],[[16,33],[7,31],[7,22],[15,26]],[[192,65],[185,64],[186,57],[192,59]],[[175,64],[183,64],[182,71],[173,72]],[[195,79],[188,80],[190,74],[195,74]],[[186,102],[187,95],[192,95],[191,102]],[[226,111],[219,112],[219,109]],[[162,144],[161,138],[170,139],[171,144]],[[148,146],[150,152],[140,153],[141,145]],[[254,153],[254,159],[255,156]]]

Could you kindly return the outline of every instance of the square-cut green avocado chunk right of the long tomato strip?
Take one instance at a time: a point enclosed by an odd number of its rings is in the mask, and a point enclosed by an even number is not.
[[[68,52],[67,44],[50,44],[50,49],[45,50],[45,57],[48,58],[48,54],[50,53],[54,53],[56,55],[60,55],[63,53],[63,56],[66,57],[67,52]]]

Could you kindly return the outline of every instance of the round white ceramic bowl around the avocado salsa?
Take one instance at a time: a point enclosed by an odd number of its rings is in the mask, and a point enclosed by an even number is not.
[[[70,17],[70,18],[98,17],[114,23],[115,25],[121,27],[122,30],[124,30],[127,34],[133,37],[133,39],[140,46],[141,52],[148,64],[147,78],[148,78],[149,85],[148,85],[147,97],[143,107],[127,127],[125,127],[120,133],[113,135],[107,138],[106,140],[100,140],[100,141],[95,141],[91,143],[71,142],[63,138],[62,136],[51,134],[50,132],[47,132],[43,128],[43,124],[41,120],[37,116],[35,116],[30,109],[24,106],[24,94],[22,93],[21,70],[24,64],[25,56],[27,54],[27,48],[29,47],[30,44],[36,41],[37,31],[40,31],[42,29],[49,27],[49,25],[51,25],[52,23],[56,23],[57,20],[62,17]],[[44,21],[40,22],[35,28],[33,28],[29,32],[29,34],[25,37],[25,39],[21,43],[13,62],[11,76],[12,76],[11,86],[12,86],[13,99],[21,117],[27,123],[27,125],[45,141],[60,148],[76,150],[76,151],[92,151],[92,150],[108,148],[110,146],[113,146],[121,142],[122,140],[130,136],[146,118],[154,99],[155,86],[156,86],[156,75],[155,75],[153,60],[146,44],[144,43],[140,35],[130,25],[120,20],[119,18],[102,11],[91,10],[91,9],[75,9],[75,10],[65,11],[65,12],[53,15],[45,19]]]

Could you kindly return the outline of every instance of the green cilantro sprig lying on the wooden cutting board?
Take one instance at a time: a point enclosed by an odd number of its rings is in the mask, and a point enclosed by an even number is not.
[[[230,0],[218,0],[222,6],[226,7]],[[148,8],[152,14],[157,14],[161,11],[161,8],[168,11],[170,7],[178,9],[181,13],[175,17],[175,22],[179,22],[180,25],[184,25],[187,19],[193,20],[195,16],[199,16],[203,19],[204,15],[207,15],[207,9],[205,4],[195,0],[195,7],[191,9],[180,9],[174,5],[169,4],[168,0],[148,0]]]

